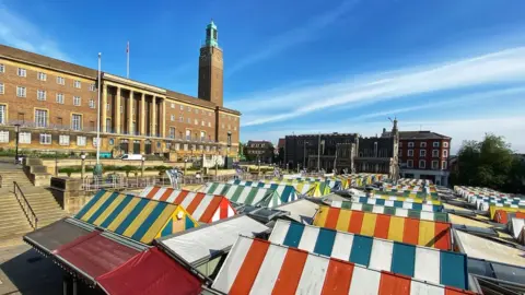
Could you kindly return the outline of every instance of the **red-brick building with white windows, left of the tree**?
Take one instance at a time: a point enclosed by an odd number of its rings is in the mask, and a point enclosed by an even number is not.
[[[383,132],[388,137],[390,132]],[[429,179],[447,186],[451,138],[432,131],[400,131],[400,175],[405,178]]]

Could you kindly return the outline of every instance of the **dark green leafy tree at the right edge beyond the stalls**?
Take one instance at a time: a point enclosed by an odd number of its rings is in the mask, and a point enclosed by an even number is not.
[[[451,175],[453,185],[523,191],[524,163],[502,137],[487,133],[480,142],[465,141],[457,154],[457,165]]]

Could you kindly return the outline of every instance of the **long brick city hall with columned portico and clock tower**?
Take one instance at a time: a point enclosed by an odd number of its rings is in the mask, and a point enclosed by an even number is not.
[[[237,110],[223,106],[217,26],[200,48],[197,97],[0,45],[0,148],[236,156]]]

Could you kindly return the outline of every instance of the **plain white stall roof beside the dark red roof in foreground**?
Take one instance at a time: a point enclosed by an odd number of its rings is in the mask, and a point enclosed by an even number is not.
[[[195,267],[228,252],[238,235],[254,237],[268,231],[266,225],[237,215],[191,231],[158,239],[158,241]]]

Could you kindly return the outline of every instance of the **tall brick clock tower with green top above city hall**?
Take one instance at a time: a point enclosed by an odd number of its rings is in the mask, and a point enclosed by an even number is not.
[[[223,94],[222,49],[213,20],[206,26],[206,42],[200,47],[198,97],[222,107]]]

